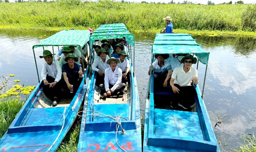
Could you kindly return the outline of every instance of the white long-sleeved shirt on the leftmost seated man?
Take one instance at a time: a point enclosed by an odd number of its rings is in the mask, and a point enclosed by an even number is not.
[[[55,81],[59,82],[61,79],[62,71],[58,60],[52,60],[51,65],[49,65],[47,62],[43,63],[43,69],[41,72],[41,77],[43,80],[46,79],[47,74],[50,77],[53,77]]]

